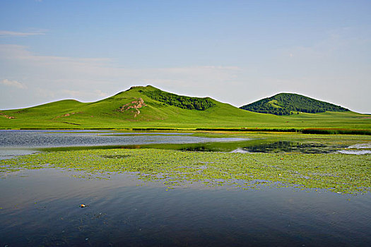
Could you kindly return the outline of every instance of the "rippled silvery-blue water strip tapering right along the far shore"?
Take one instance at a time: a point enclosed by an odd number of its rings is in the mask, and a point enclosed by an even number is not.
[[[107,133],[107,131],[2,131],[0,147],[72,147],[141,145],[149,143],[206,143],[245,140],[204,138],[189,133]]]

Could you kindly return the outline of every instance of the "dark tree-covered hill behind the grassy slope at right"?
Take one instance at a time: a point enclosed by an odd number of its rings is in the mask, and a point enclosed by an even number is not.
[[[314,100],[310,97],[294,93],[279,93],[269,98],[246,104],[240,109],[250,112],[269,113],[275,115],[290,115],[293,112],[348,112],[349,110],[335,104]]]

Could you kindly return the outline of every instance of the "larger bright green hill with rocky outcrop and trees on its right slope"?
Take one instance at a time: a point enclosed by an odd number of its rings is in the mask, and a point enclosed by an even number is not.
[[[182,128],[245,126],[272,119],[210,97],[189,97],[151,85],[134,86],[97,102],[61,100],[0,111],[0,128]]]

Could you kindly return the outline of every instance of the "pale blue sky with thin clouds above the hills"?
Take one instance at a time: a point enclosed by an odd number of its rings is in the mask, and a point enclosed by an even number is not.
[[[0,0],[0,109],[133,85],[371,113],[371,1]]]

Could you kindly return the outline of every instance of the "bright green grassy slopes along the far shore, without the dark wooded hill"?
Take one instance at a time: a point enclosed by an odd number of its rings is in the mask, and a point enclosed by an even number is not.
[[[357,128],[371,129],[355,112],[276,116],[249,112],[211,98],[132,87],[98,102],[61,100],[0,111],[0,128]]]

